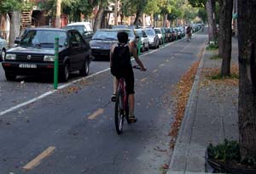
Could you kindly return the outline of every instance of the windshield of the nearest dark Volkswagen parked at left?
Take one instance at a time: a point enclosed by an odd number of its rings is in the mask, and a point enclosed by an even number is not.
[[[21,46],[54,48],[55,37],[59,37],[59,45],[63,46],[67,39],[65,31],[30,30],[20,40]]]

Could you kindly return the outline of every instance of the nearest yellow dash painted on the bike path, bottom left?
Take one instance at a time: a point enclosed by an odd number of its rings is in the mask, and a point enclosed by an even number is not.
[[[27,163],[26,166],[23,166],[22,168],[25,170],[31,170],[35,166],[38,166],[40,164],[41,160],[43,160],[44,158],[46,158],[47,156],[52,154],[54,150],[55,150],[54,146],[49,146],[48,149],[44,150],[44,152],[39,154],[35,159],[33,159],[32,161]]]

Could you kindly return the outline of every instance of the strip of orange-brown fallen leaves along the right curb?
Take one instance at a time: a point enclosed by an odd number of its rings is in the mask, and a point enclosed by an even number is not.
[[[170,132],[170,136],[172,137],[170,148],[174,149],[177,133],[181,126],[183,115],[186,109],[186,105],[189,99],[189,93],[191,87],[193,86],[193,82],[195,80],[195,74],[197,72],[200,61],[196,61],[190,69],[181,77],[180,81],[177,82],[177,86],[174,87],[172,92],[172,96],[175,98],[175,118],[172,122],[172,129]]]

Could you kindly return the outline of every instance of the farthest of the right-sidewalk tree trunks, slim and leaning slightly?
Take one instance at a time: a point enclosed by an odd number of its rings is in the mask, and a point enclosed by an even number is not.
[[[207,20],[209,25],[209,42],[217,39],[215,0],[207,0],[206,3]]]

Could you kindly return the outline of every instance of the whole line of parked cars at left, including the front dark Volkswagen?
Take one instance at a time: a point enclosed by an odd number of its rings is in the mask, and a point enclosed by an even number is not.
[[[127,32],[131,46],[142,52],[149,48],[159,48],[164,42],[172,42],[184,36],[182,28],[123,26],[100,29],[94,33],[89,22],[73,23],[62,29],[49,26],[27,28],[16,39],[15,48],[1,49],[6,79],[14,81],[17,76],[53,75],[55,37],[59,38],[60,80],[67,81],[73,71],[79,71],[81,76],[87,76],[91,59],[109,59],[110,48],[113,43],[118,42],[119,31]],[[0,43],[2,46],[2,42]]]

